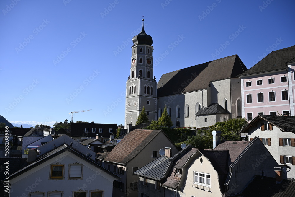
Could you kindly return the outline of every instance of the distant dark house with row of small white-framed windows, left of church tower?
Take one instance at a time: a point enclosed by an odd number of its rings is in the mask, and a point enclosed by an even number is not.
[[[117,124],[73,123],[69,136],[82,142],[86,139],[96,138],[102,142],[110,140],[110,134],[117,134]]]

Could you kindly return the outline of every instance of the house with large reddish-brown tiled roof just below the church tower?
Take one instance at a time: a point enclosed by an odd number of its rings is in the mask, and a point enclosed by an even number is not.
[[[162,130],[135,129],[106,155],[99,157],[99,163],[121,177],[114,183],[113,196],[137,196],[138,175],[133,172],[159,158],[158,151],[171,148],[171,154],[178,150]]]

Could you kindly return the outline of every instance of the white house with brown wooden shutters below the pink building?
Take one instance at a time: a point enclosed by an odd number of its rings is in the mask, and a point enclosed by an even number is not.
[[[258,115],[241,134],[252,140],[258,136],[276,161],[287,167],[289,179],[295,179],[295,117]]]

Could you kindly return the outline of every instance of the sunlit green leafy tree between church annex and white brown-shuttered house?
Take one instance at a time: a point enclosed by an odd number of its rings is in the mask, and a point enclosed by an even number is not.
[[[210,126],[212,130],[220,130],[227,141],[240,141],[240,131],[248,124],[245,118],[233,118],[226,122],[217,122]]]

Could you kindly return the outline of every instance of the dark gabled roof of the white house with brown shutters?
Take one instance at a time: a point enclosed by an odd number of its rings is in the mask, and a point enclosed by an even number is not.
[[[278,127],[279,129],[286,131],[286,132],[294,132],[295,131],[295,116],[281,116],[281,115],[258,115],[256,116],[253,121],[248,123],[245,126],[241,133],[248,132],[248,129],[253,127],[251,125],[256,124],[260,120],[265,120],[270,122],[272,125]],[[258,127],[260,127],[258,125]]]

